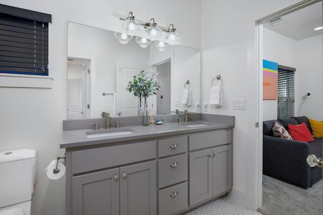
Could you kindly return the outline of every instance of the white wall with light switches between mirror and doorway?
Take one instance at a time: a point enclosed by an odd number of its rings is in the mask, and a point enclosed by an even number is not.
[[[235,116],[233,191],[231,196],[256,209],[258,158],[255,109],[255,21],[299,1],[202,0],[201,103],[208,102],[210,80],[221,75],[224,104],[208,113]],[[233,110],[232,99],[245,98],[245,110]],[[202,111],[203,112],[203,111]],[[261,116],[260,116],[261,118]]]

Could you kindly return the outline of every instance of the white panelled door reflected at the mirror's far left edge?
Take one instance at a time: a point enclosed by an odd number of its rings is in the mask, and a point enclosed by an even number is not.
[[[82,119],[82,79],[67,81],[67,119]]]

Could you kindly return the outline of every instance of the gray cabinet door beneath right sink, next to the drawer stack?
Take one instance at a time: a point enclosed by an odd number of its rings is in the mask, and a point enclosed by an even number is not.
[[[212,197],[212,149],[189,154],[190,206]]]

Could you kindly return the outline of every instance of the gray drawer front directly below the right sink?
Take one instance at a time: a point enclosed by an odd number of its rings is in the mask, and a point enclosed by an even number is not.
[[[218,130],[189,136],[189,150],[198,150],[208,147],[230,144],[232,142],[232,129]]]

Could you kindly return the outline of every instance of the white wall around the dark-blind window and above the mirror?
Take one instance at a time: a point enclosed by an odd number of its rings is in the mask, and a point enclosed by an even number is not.
[[[132,11],[140,22],[148,22],[153,17],[164,29],[173,23],[182,34],[182,45],[200,48],[200,1],[1,0],[0,3],[52,15],[52,24],[49,24],[52,88],[0,88],[0,151],[35,149],[37,185],[32,214],[64,214],[65,179],[49,180],[44,170],[51,160],[65,152],[60,149],[60,140],[67,105],[67,22],[120,31],[119,18],[126,18]]]

